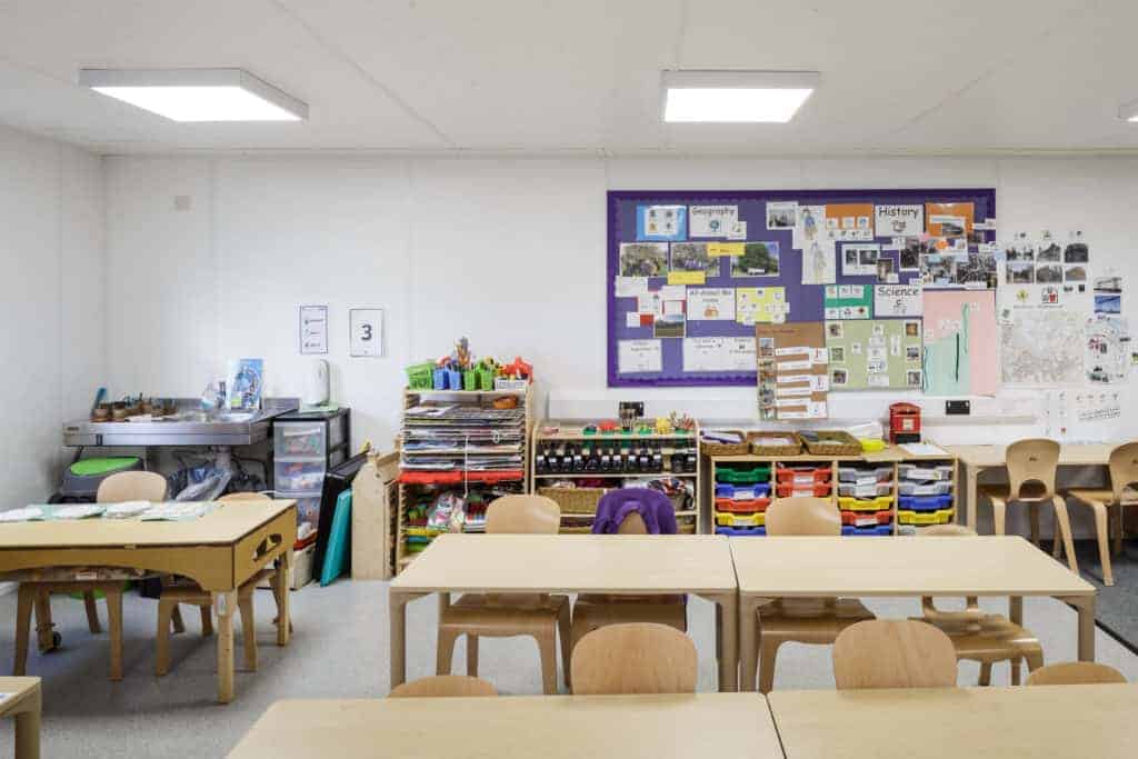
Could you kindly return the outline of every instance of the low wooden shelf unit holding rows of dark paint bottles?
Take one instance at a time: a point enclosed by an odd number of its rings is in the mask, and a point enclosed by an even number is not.
[[[630,431],[591,420],[547,419],[534,426],[533,492],[561,506],[562,533],[589,533],[601,496],[643,486],[671,498],[679,534],[702,531],[699,429],[660,434],[643,424]]]

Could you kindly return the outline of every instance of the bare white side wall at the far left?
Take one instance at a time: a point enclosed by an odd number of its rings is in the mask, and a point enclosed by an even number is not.
[[[104,381],[104,248],[99,158],[0,127],[0,509],[51,495]]]

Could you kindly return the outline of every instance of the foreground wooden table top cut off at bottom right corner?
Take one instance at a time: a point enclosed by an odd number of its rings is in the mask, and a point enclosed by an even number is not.
[[[775,691],[787,759],[1094,757],[1138,743],[1138,686]]]

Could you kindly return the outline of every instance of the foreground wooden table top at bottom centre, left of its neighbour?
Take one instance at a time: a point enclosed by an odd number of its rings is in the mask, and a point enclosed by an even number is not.
[[[344,759],[783,757],[766,701],[743,693],[278,701],[229,756],[310,759],[331,744]]]

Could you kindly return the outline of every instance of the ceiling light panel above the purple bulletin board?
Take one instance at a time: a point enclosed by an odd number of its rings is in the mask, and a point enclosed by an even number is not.
[[[663,72],[663,121],[785,124],[819,80],[817,72]]]

